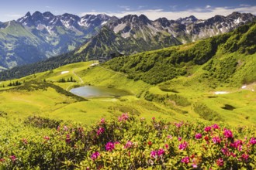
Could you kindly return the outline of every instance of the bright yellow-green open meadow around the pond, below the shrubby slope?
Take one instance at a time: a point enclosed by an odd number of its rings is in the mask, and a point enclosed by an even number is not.
[[[92,62],[74,63],[61,66],[56,70],[37,73],[19,80],[20,87],[26,82],[34,81],[26,86],[36,87],[36,83],[53,83],[63,90],[84,85],[102,86],[128,90],[133,95],[119,98],[96,97],[79,101],[73,96],[58,93],[54,87],[34,88],[26,90],[19,87],[7,87],[9,81],[2,82],[5,87],[1,90],[1,111],[8,117],[28,117],[36,115],[57,120],[76,121],[92,124],[102,117],[116,117],[129,112],[150,121],[151,117],[161,117],[168,121],[223,121],[237,125],[256,123],[256,94],[254,83],[241,87],[217,87],[211,89],[199,86],[196,82],[200,68],[193,76],[177,77],[157,85],[150,85],[142,80],[131,80],[125,73],[114,72],[102,66],[90,66]],[[73,77],[76,82],[58,83],[62,78]],[[23,83],[25,82],[25,83]],[[189,86],[185,86],[189,84]],[[215,94],[216,91],[226,91],[225,94]],[[153,99],[147,96],[153,96]],[[173,97],[172,97],[173,96]],[[164,98],[158,100],[158,98]],[[188,104],[183,105],[184,101]],[[225,105],[229,107],[225,108]],[[233,108],[234,107],[234,108]],[[196,109],[198,108],[198,109]],[[202,113],[199,111],[202,110]],[[210,114],[210,115],[208,115]],[[216,114],[216,117],[213,115]]]

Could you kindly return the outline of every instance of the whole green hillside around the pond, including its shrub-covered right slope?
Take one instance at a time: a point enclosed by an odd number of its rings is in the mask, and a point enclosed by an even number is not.
[[[256,124],[255,24],[182,46],[121,56],[106,63],[72,63],[0,82],[0,111],[92,124],[130,113],[150,121]],[[237,44],[237,45],[234,45]],[[123,97],[86,99],[69,91],[95,86]]]

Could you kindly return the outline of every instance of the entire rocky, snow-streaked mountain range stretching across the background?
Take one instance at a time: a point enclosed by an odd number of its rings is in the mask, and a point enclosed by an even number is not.
[[[108,56],[161,49],[216,36],[253,22],[250,13],[233,12],[200,20],[166,18],[151,21],[145,15],[53,15],[29,12],[16,21],[0,22],[0,70],[48,59],[56,66]],[[69,52],[69,53],[67,53]],[[67,53],[67,54],[64,54]],[[61,56],[58,56],[63,54]],[[72,56],[72,57],[71,57]],[[52,63],[51,61],[57,61]]]

